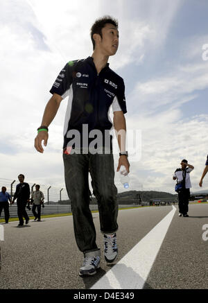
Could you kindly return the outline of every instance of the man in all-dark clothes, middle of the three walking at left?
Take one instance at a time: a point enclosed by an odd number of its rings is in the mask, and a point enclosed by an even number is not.
[[[26,212],[26,205],[30,201],[31,191],[29,184],[24,182],[24,175],[22,174],[18,175],[18,179],[19,179],[19,184],[17,184],[12,203],[14,203],[15,200],[17,199],[17,214],[19,217],[18,227],[21,227],[24,225],[23,217],[25,218],[25,224],[28,224],[29,222],[29,217]]]

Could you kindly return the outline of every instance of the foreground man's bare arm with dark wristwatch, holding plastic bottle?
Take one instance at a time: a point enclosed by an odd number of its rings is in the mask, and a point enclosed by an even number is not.
[[[116,131],[116,138],[118,140],[120,151],[121,153],[125,152],[126,125],[125,116],[122,111],[114,112],[114,129]],[[125,166],[126,170],[129,173],[130,164],[128,162],[128,157],[125,155],[121,155],[119,157],[117,171],[119,171],[121,165]]]

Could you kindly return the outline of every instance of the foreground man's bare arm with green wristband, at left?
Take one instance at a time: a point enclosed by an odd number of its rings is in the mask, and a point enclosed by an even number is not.
[[[61,101],[62,97],[54,93],[49,102],[46,104],[41,125],[48,127],[51,124],[56,113],[58,112]],[[42,130],[41,132],[38,132],[37,136],[35,137],[35,148],[37,151],[40,153],[44,152],[44,149],[42,148],[42,140],[44,140],[44,146],[46,146],[48,138],[49,134],[47,131]]]

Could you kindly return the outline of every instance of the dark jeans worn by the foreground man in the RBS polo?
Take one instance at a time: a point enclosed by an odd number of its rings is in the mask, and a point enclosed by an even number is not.
[[[114,158],[111,154],[64,155],[64,176],[71,200],[73,228],[81,252],[98,250],[96,230],[89,210],[89,172],[93,193],[98,200],[101,232],[111,234],[118,230],[117,189],[114,184]]]

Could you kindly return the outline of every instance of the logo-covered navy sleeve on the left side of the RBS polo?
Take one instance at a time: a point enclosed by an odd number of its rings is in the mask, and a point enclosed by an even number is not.
[[[50,89],[51,94],[58,94],[62,99],[69,95],[69,88],[73,81],[73,64],[73,61],[68,62],[60,71]]]

